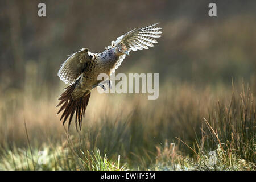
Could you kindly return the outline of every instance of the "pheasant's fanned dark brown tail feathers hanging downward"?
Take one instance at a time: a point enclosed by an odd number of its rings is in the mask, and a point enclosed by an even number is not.
[[[69,122],[68,122],[68,130],[72,121],[72,117],[76,112],[76,130],[77,130],[77,121],[78,121],[79,128],[81,131],[82,116],[84,117],[85,115],[85,109],[89,102],[90,92],[86,92],[84,96],[82,96],[81,98],[78,98],[77,100],[73,100],[71,93],[73,92],[75,87],[76,87],[76,83],[69,85],[67,88],[65,88],[65,92],[63,92],[60,95],[60,98],[59,98],[60,103],[56,107],[59,107],[60,105],[62,105],[57,114],[59,114],[61,111],[64,110],[63,114],[60,117],[60,121],[61,119],[64,118],[63,125],[65,121],[68,119],[68,117],[70,116]]]

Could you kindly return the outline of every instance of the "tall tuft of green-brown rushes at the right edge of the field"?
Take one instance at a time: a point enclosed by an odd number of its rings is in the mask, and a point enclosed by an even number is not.
[[[229,156],[236,154],[255,163],[255,101],[250,88],[242,88],[239,96],[233,90],[229,105],[218,101],[217,107],[209,110],[208,119],[204,118],[207,129],[203,133],[201,150],[219,146],[228,151]]]

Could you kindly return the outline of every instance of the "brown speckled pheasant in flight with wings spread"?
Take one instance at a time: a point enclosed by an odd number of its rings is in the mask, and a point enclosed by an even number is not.
[[[129,56],[131,50],[148,49],[148,47],[154,46],[153,43],[158,43],[154,38],[160,37],[162,31],[159,30],[162,28],[156,27],[157,24],[134,28],[112,41],[111,45],[101,53],[92,53],[88,48],[82,48],[65,60],[57,73],[60,80],[69,84],[60,95],[60,102],[57,105],[57,107],[61,106],[57,114],[63,111],[60,117],[60,121],[63,119],[63,125],[69,117],[69,129],[72,117],[76,113],[76,129],[78,122],[81,131],[82,117],[85,116],[91,90],[96,86],[105,90],[104,83],[106,81],[111,88],[110,80],[97,80],[98,75],[105,73],[110,76],[121,65],[125,56]]]

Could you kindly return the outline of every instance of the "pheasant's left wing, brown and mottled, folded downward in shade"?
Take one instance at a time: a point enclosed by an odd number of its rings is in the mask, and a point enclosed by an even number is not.
[[[73,53],[60,66],[58,76],[65,84],[73,84],[84,71],[86,63],[93,58],[93,54],[88,51],[88,48],[83,48],[81,51]]]

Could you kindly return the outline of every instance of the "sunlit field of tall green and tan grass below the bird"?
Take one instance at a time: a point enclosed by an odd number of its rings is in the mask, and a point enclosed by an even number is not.
[[[93,92],[80,133],[58,122],[56,92],[6,93],[0,169],[254,170],[255,90],[172,85],[156,101]]]

